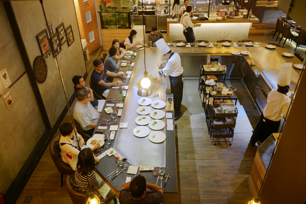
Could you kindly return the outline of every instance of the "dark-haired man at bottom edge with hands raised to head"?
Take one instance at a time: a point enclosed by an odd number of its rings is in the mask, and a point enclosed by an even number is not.
[[[152,193],[146,195],[147,188]],[[147,183],[143,175],[138,175],[132,181],[121,186],[119,202],[120,204],[160,204],[163,192],[160,186]]]

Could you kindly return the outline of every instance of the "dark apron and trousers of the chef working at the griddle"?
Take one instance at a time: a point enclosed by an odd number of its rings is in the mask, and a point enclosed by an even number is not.
[[[181,103],[183,98],[183,75],[180,76],[169,76],[170,78],[170,88],[173,94],[174,101],[174,112],[181,112]]]

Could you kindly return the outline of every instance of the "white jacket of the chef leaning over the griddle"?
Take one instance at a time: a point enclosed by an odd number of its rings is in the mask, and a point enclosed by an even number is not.
[[[169,60],[167,60],[166,67],[161,69],[162,74],[168,73],[169,76],[180,76],[183,73],[181,66],[181,57],[177,53],[171,53]]]

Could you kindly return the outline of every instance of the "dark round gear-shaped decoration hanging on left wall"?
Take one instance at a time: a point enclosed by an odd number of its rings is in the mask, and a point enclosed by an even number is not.
[[[37,56],[33,63],[33,73],[38,83],[44,83],[47,79],[47,62],[43,56]]]

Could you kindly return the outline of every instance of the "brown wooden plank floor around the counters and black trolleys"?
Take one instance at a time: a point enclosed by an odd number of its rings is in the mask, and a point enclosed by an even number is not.
[[[254,42],[273,41],[272,35],[252,35],[250,38]],[[286,48],[294,50],[292,43],[286,44]],[[300,48],[300,52],[304,54],[305,49]],[[207,134],[205,114],[197,90],[198,81],[184,80],[184,114],[175,121],[178,193],[166,193],[165,203],[235,204],[247,203],[252,199],[247,181],[257,146],[250,147],[248,142],[259,113],[254,109],[241,81],[230,80],[227,83],[239,87],[236,91],[240,98],[234,141],[232,146],[214,146]],[[63,122],[69,121],[66,116]],[[57,134],[60,134],[59,131]],[[31,203],[35,204],[72,203],[65,184],[60,186],[60,173],[50,157],[49,149],[39,161],[17,203],[23,203],[26,196],[33,196]]]

